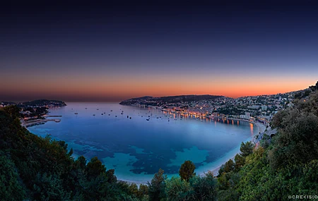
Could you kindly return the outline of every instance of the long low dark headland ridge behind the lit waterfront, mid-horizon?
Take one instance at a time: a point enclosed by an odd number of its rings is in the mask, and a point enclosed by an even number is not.
[[[177,103],[177,102],[193,102],[193,101],[200,101],[200,100],[211,100],[217,99],[223,96],[216,96],[216,95],[179,95],[179,96],[170,96],[170,97],[137,97],[132,99],[127,99],[119,104],[122,105],[133,105],[133,104],[148,104],[152,105],[153,103]]]

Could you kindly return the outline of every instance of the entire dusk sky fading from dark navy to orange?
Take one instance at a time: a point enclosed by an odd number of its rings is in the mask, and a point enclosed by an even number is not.
[[[0,101],[242,97],[318,80],[317,1],[0,5]]]

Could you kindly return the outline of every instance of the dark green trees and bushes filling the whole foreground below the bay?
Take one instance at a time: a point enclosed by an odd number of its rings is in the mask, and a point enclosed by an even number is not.
[[[278,133],[256,147],[242,143],[217,178],[196,176],[187,161],[180,177],[160,169],[139,188],[117,181],[96,157],[73,159],[65,142],[29,133],[17,116],[14,106],[0,110],[1,200],[290,200],[318,192],[318,92],[279,111],[271,121]]]

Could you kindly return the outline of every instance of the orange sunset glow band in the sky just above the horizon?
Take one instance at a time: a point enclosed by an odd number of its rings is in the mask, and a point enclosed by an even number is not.
[[[164,76],[164,75],[163,75]],[[34,95],[34,97],[49,97],[54,99],[72,100],[100,99],[116,100],[129,99],[132,97],[152,96],[175,96],[175,95],[223,95],[226,97],[244,97],[255,95],[273,95],[277,93],[303,90],[317,82],[316,78],[187,78],[182,76],[161,78],[143,78],[143,76],[129,77],[122,75],[120,78],[95,78],[61,77],[50,80],[38,78],[33,82],[21,79],[18,83],[4,80],[9,85],[0,85],[4,95]]]

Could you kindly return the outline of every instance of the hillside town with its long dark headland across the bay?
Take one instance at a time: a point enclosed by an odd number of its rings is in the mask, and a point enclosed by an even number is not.
[[[285,109],[288,106],[293,106],[293,99],[295,99],[295,97],[306,97],[314,90],[315,86],[311,86],[305,90],[286,92],[277,95],[259,95],[238,98],[199,95],[197,96],[198,100],[193,100],[196,97],[195,95],[177,96],[175,98],[139,97],[125,100],[120,104],[139,107],[151,106],[156,109],[184,116],[259,121],[268,126],[273,114],[276,114],[278,111]],[[207,99],[202,99],[202,96],[206,96]],[[165,100],[167,101],[165,102]]]

